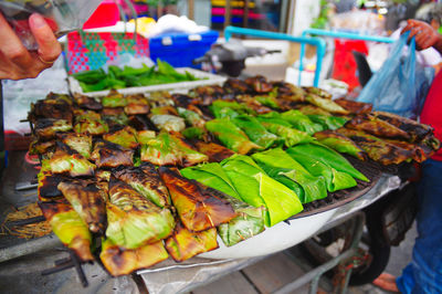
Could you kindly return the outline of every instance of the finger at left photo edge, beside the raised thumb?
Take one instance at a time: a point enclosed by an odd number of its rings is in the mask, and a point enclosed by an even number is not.
[[[11,29],[9,23],[0,13],[0,40],[8,40],[8,42],[1,42],[0,51],[4,59],[10,60],[20,69],[24,70],[32,63],[32,56],[29,51],[23,46],[20,39],[17,36],[14,31]]]

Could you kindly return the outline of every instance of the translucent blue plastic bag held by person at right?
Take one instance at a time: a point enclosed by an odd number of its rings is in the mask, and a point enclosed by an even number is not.
[[[382,67],[375,73],[358,102],[371,103],[373,109],[394,113],[404,117],[419,116],[434,77],[434,69],[415,62],[415,41],[403,54],[409,33],[393,44]]]

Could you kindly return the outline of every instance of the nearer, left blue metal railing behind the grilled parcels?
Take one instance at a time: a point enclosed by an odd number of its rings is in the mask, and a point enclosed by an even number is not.
[[[232,36],[232,34],[243,34],[243,35],[252,35],[265,39],[275,39],[275,40],[285,40],[290,42],[301,43],[302,46],[305,44],[311,44],[316,46],[316,70],[315,70],[315,80],[313,82],[314,86],[319,85],[319,74],[323,66],[323,59],[325,55],[325,41],[319,38],[312,38],[312,36],[294,36],[285,33],[276,33],[276,32],[267,32],[261,30],[253,30],[253,29],[243,29],[236,27],[227,27],[224,29],[224,38],[225,41]],[[301,62],[302,60],[299,60]],[[302,64],[302,62],[299,63]],[[301,85],[301,69],[299,69],[299,78],[298,84]]]

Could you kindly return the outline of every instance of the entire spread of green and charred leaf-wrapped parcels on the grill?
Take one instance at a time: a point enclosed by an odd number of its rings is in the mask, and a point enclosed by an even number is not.
[[[262,76],[187,95],[49,94],[31,106],[39,204],[82,261],[113,275],[230,246],[368,181],[339,153],[424,160],[432,129]]]

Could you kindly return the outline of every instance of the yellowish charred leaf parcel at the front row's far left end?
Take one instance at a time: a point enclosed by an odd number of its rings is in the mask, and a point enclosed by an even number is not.
[[[93,261],[92,235],[87,224],[66,202],[39,202],[44,218],[60,241],[73,250],[82,261]]]

